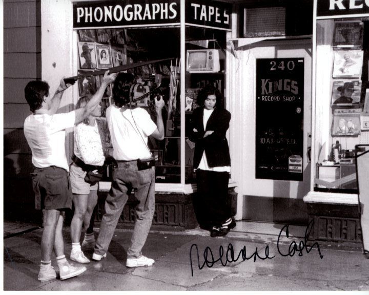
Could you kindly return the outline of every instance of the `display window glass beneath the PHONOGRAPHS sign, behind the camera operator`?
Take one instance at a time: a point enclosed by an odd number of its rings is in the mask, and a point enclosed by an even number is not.
[[[156,182],[180,182],[180,83],[179,28],[139,28],[139,29],[88,29],[77,30],[78,74],[91,76],[78,79],[79,95],[93,94],[100,86],[102,75],[94,75],[95,70],[108,69],[143,61],[168,59],[161,62],[129,69],[135,77],[131,86],[132,100],[146,109],[156,122],[154,97],[165,100],[162,111],[165,139],[149,137],[148,146],[156,158]],[[105,153],[112,155],[113,147],[106,123],[106,108],[114,103],[112,86],[103,98],[103,116],[98,120]]]

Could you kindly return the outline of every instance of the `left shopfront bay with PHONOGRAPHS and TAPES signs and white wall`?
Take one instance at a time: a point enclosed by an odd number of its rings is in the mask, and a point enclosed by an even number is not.
[[[133,99],[156,121],[152,99],[165,100],[165,138],[149,138],[156,158],[154,225],[197,226],[192,206],[196,193],[194,146],[188,139],[189,120],[198,105],[199,89],[208,83],[227,93],[227,38],[231,36],[232,5],[224,2],[158,1],[58,1],[42,2],[42,76],[57,85],[61,76],[75,77],[62,108],[72,110],[79,96],[96,92],[105,69],[139,64],[127,69],[136,78]],[[186,16],[185,16],[186,15]],[[143,63],[143,64],[142,64]],[[100,71],[100,72],[99,72]],[[113,149],[105,118],[113,103],[112,88],[103,98],[98,127],[106,155]],[[69,136],[67,152],[73,152]],[[67,155],[68,156],[68,155]],[[99,183],[99,212],[111,186]],[[229,200],[237,206],[236,182],[230,179]],[[120,223],[133,224],[135,198],[131,195]]]

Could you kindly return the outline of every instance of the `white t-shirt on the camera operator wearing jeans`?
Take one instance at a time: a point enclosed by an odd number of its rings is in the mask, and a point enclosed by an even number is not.
[[[146,110],[112,105],[107,109],[106,117],[115,160],[131,161],[151,156],[147,142],[148,136],[156,130],[156,124]]]

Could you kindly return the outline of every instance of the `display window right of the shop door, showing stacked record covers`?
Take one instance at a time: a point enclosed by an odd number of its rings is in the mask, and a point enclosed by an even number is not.
[[[369,143],[368,37],[368,18],[317,20],[315,191],[357,193],[356,145]]]

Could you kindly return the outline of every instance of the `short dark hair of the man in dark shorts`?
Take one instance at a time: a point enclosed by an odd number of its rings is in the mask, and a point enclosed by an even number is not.
[[[28,82],[25,87],[25,97],[32,113],[42,107],[44,96],[49,96],[49,89],[50,86],[46,81]]]

